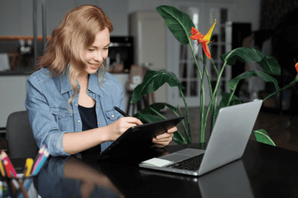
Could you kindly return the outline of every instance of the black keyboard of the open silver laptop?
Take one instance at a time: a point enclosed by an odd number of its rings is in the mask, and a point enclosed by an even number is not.
[[[166,167],[196,171],[196,170],[199,170],[200,168],[203,156],[204,156],[204,153],[185,159],[183,161],[168,165]]]

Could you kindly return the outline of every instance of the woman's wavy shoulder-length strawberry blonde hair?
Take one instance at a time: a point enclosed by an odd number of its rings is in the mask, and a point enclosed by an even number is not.
[[[67,102],[73,102],[78,95],[76,77],[86,68],[82,54],[95,40],[96,33],[108,28],[113,31],[111,20],[102,9],[95,5],[82,5],[68,11],[62,23],[53,31],[46,53],[38,59],[38,68],[47,67],[51,77],[69,75],[74,88],[73,96]],[[72,65],[72,70],[69,70]],[[95,73],[98,85],[102,88],[106,78],[106,69],[102,64]]]

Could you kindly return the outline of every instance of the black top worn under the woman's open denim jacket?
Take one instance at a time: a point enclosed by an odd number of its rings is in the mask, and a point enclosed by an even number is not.
[[[97,117],[95,104],[93,107],[87,108],[81,105],[78,105],[79,115],[82,120],[82,131],[87,131],[90,129],[97,128]],[[81,151],[82,159],[84,159],[89,154],[98,155],[101,151],[100,145]]]

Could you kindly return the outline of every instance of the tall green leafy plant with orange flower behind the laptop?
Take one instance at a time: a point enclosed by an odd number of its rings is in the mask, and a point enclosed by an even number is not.
[[[236,90],[236,87],[240,80],[251,78],[252,76],[258,76],[262,78],[266,82],[272,82],[274,83],[274,86],[276,88],[276,92],[272,93],[268,97],[266,97],[264,100],[268,99],[269,97],[278,94],[279,92],[283,91],[284,89],[287,89],[289,87],[292,87],[296,84],[298,81],[298,78],[295,78],[289,85],[285,86],[284,88],[280,89],[278,86],[278,81],[273,78],[271,75],[280,75],[281,69],[277,62],[277,60],[271,56],[265,55],[262,52],[251,49],[251,48],[237,48],[233,49],[230,52],[221,55],[221,59],[224,62],[224,65],[221,69],[221,71],[218,71],[213,59],[211,58],[208,45],[210,44],[210,39],[213,35],[213,30],[216,25],[216,21],[213,24],[213,26],[210,28],[209,32],[204,36],[202,35],[198,30],[195,29],[195,25],[192,22],[190,16],[177,8],[173,6],[167,6],[162,5],[156,7],[156,10],[158,13],[164,18],[165,23],[169,30],[172,32],[174,37],[184,45],[189,45],[195,60],[195,64],[197,66],[200,80],[201,80],[201,92],[200,92],[200,143],[205,142],[205,131],[206,131],[206,125],[207,125],[207,117],[209,112],[211,111],[211,128],[213,127],[215,123],[215,118],[220,110],[220,108],[230,105],[235,105],[241,103],[240,99],[238,99],[236,96],[234,96],[234,92]],[[193,46],[191,44],[192,40],[197,40],[198,44],[201,44],[203,48],[203,54],[202,54],[202,61],[203,61],[203,68],[199,68],[197,58],[193,49]],[[207,58],[210,58],[213,67],[217,72],[217,84],[215,86],[215,89],[213,90],[211,87],[211,82],[208,74],[208,70],[206,68],[206,60]],[[219,84],[220,84],[220,78],[224,72],[224,68],[226,65],[234,65],[236,60],[241,60],[244,62],[252,62],[255,61],[259,63],[259,65],[263,68],[264,71],[257,71],[257,70],[251,70],[246,71],[234,79],[231,79],[227,82],[228,88],[231,89],[231,94],[229,93],[222,93],[222,100],[220,101],[219,106],[217,106],[218,103],[218,90],[219,90]],[[298,66],[296,67],[298,71]],[[210,95],[211,100],[209,101],[207,111],[204,112],[205,108],[205,89],[204,89],[204,75],[207,76],[208,82],[209,82],[209,88],[210,88]],[[156,91],[159,87],[161,87],[164,83],[168,83],[171,87],[177,87],[180,91],[181,97],[184,100],[185,108],[186,108],[186,117],[187,117],[187,125],[184,121],[182,121],[183,128],[184,128],[184,135],[182,135],[181,132],[177,131],[174,133],[173,141],[177,144],[189,144],[192,143],[191,141],[191,129],[190,129],[190,120],[189,120],[189,111],[187,102],[185,100],[185,97],[183,95],[182,90],[184,87],[180,84],[178,78],[176,75],[172,72],[168,72],[165,70],[159,70],[159,71],[152,71],[148,70],[146,72],[146,75],[144,77],[143,83],[138,85],[133,92],[133,96],[131,99],[131,103],[135,103],[138,100],[142,99],[142,97],[148,93]],[[181,109],[179,105],[177,106],[178,111],[180,115],[176,112],[176,107],[167,104],[167,103],[153,103],[147,108],[138,111],[137,114],[134,116],[145,120],[147,122],[153,122],[158,121],[161,119],[166,119],[159,111],[163,109],[165,106],[169,107],[170,110],[172,110],[177,116],[182,115]],[[205,114],[204,114],[205,113]],[[256,140],[258,142],[266,143],[275,146],[272,139],[269,137],[268,133],[263,130],[259,129],[256,131],[253,131],[252,134],[255,135]]]

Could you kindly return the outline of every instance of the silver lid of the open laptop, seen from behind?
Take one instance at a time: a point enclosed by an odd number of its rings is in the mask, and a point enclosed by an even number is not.
[[[221,108],[199,175],[214,170],[243,155],[263,100]]]

